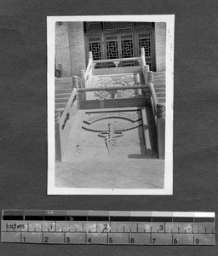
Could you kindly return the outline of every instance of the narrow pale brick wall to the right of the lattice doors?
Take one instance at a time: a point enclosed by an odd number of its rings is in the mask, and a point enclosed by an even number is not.
[[[165,71],[166,61],[166,23],[155,22],[157,71]]]

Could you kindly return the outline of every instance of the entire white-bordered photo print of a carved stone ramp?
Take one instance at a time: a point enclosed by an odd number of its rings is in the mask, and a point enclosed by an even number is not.
[[[49,195],[172,195],[174,15],[50,16]]]

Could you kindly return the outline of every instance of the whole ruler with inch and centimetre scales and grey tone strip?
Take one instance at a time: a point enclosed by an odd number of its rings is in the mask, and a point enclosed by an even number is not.
[[[1,241],[215,245],[215,212],[3,210]]]

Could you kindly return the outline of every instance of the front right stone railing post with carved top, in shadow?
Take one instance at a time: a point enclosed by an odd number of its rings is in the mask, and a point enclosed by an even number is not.
[[[157,137],[158,157],[164,159],[165,154],[165,105],[157,104]]]

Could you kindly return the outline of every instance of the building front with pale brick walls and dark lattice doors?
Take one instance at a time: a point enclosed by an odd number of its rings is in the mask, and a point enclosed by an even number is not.
[[[55,68],[58,76],[79,75],[94,60],[132,58],[145,49],[150,70],[165,71],[166,24],[164,22],[56,22]],[[126,61],[124,66],[132,66]]]

